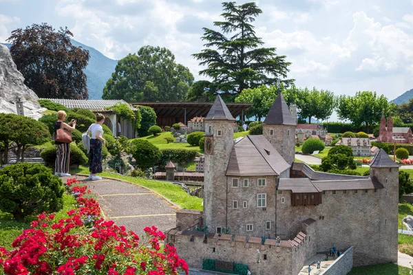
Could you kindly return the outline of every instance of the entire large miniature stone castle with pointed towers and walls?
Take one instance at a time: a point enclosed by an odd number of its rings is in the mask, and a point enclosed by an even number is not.
[[[397,261],[399,166],[383,150],[370,177],[294,162],[297,123],[282,94],[262,135],[234,143],[234,120],[218,96],[204,120],[204,211],[178,211],[167,234],[190,267],[215,259],[248,265],[253,274],[296,275],[332,247],[351,251],[350,269]]]

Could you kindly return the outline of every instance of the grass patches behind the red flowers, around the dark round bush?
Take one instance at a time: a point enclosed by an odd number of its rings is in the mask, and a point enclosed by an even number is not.
[[[67,219],[67,211],[73,209],[76,200],[72,195],[63,194],[63,209],[56,213],[55,219]],[[0,212],[0,247],[7,250],[12,249],[12,242],[23,232],[24,229],[30,228],[30,223],[35,216],[26,217],[25,221],[14,221],[12,214]]]

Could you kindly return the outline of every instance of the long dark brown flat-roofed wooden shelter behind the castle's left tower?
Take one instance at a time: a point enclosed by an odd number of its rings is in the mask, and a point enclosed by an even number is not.
[[[155,110],[158,126],[172,126],[182,122],[187,125],[188,120],[195,116],[206,117],[213,102],[129,102],[129,104],[152,107]],[[234,118],[244,118],[246,111],[252,103],[226,103]]]

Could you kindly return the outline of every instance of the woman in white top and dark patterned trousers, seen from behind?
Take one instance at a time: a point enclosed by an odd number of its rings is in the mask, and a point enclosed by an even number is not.
[[[97,173],[102,173],[102,144],[105,145],[105,139],[102,137],[103,128],[102,124],[105,122],[105,115],[101,113],[96,113],[96,123],[89,126],[86,135],[92,133],[92,138],[90,139],[90,150],[89,150],[89,179],[99,180],[102,179],[98,177]]]

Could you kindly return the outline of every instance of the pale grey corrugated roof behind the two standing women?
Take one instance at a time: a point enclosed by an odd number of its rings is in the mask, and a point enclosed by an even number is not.
[[[116,103],[126,103],[124,100],[77,100],[77,99],[59,99],[59,98],[42,98],[47,99],[55,103],[62,104],[63,106],[72,108],[88,109],[90,111],[108,111],[105,108],[114,106]],[[131,110],[136,111],[135,107],[129,105]]]

